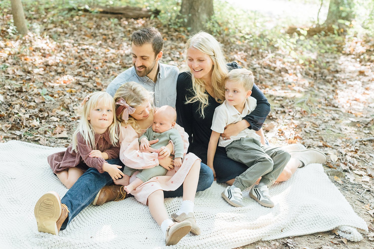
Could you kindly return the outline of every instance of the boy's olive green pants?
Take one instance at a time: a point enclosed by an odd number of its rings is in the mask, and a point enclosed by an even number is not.
[[[282,148],[264,146],[250,137],[233,141],[226,146],[226,153],[228,158],[248,166],[233,183],[242,191],[251,187],[260,177],[260,182],[270,187],[291,158]]]

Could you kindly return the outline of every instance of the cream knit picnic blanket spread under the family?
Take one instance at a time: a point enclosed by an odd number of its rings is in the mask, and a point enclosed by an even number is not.
[[[270,187],[274,208],[266,208],[243,192],[244,208],[234,208],[222,197],[225,184],[196,194],[194,212],[201,234],[188,234],[175,246],[164,238],[147,206],[134,197],[89,205],[60,232],[40,233],[34,205],[42,194],[67,189],[52,174],[47,155],[65,148],[20,141],[0,143],[0,248],[235,248],[257,240],[328,231],[353,241],[368,231],[347,200],[329,181],[321,164],[300,168],[286,182]],[[171,215],[181,198],[165,199]]]

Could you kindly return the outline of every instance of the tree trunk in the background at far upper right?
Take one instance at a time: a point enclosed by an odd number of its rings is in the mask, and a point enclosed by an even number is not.
[[[353,1],[352,0],[330,0],[327,18],[324,26],[331,25],[342,26],[338,20],[352,21],[353,19]]]

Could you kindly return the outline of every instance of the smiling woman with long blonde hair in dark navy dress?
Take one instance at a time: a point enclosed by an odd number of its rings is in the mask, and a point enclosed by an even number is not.
[[[177,123],[189,135],[189,151],[206,164],[214,110],[225,100],[224,78],[229,71],[239,66],[236,62],[226,63],[220,44],[206,32],[199,32],[188,39],[185,55],[189,70],[178,75]],[[242,121],[227,125],[221,134],[223,140],[236,136],[245,128],[255,131],[261,129],[270,112],[270,104],[255,84],[251,96],[257,100],[256,108],[244,116]],[[261,141],[265,141],[265,138]],[[299,166],[326,161],[326,156],[317,150],[291,152],[291,156],[293,158],[291,157],[277,181],[288,180]],[[229,185],[233,184],[235,177],[248,169],[248,166],[227,158],[224,147],[217,148],[213,166],[217,182]]]

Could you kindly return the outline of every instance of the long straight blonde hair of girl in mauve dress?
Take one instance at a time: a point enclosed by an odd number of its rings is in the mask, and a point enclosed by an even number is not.
[[[98,91],[88,94],[89,99],[83,104],[83,113],[80,117],[80,122],[77,130],[73,134],[73,150],[77,152],[77,134],[80,133],[86,144],[91,146],[93,150],[95,146],[95,130],[93,130],[91,122],[88,120],[90,111],[98,105],[99,102],[104,102],[105,106],[111,106],[113,110],[113,122],[109,126],[110,143],[115,145],[118,142],[118,131],[120,123],[116,119],[116,103],[109,93],[104,91]]]

